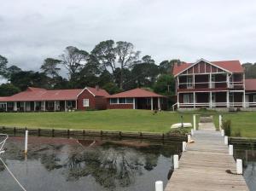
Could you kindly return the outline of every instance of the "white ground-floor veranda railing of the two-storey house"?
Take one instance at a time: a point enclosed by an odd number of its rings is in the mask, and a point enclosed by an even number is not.
[[[203,102],[203,103],[175,103],[172,105],[172,109],[175,107],[256,107],[256,102]]]

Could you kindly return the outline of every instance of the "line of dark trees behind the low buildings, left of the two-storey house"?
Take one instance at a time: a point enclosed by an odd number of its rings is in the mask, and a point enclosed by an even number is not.
[[[0,76],[8,81],[0,85],[0,96],[11,96],[28,86],[57,90],[96,85],[110,94],[143,87],[172,96],[176,62],[179,60],[156,63],[150,55],[142,56],[132,43],[113,40],[96,44],[90,52],[68,46],[58,57],[45,58],[40,71],[22,70],[0,55]]]

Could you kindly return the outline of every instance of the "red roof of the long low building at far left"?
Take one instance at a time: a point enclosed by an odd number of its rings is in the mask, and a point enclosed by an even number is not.
[[[94,96],[109,96],[106,90],[85,88]],[[72,90],[45,90],[39,88],[27,88],[14,96],[5,97],[0,101],[61,101],[61,100],[77,100],[79,93],[85,89]]]

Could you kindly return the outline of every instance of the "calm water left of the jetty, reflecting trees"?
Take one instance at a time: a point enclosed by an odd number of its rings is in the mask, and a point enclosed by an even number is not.
[[[11,137],[2,157],[27,190],[154,191],[172,174],[172,154],[180,145]],[[1,190],[20,190],[0,165]]]

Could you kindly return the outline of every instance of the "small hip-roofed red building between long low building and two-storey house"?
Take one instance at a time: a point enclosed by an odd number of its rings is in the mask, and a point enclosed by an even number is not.
[[[161,110],[166,107],[165,98],[166,96],[137,88],[108,96],[108,109]]]

